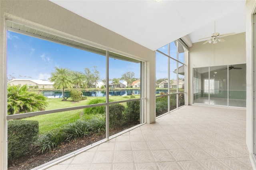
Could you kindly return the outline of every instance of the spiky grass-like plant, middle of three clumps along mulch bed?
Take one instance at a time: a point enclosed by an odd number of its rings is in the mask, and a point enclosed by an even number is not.
[[[81,119],[76,120],[74,123],[69,123],[63,127],[63,131],[66,133],[66,140],[69,142],[76,140],[77,138],[88,136],[89,123]]]

